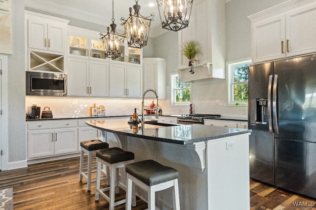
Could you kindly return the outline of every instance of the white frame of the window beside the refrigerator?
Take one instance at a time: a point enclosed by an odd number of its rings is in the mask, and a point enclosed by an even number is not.
[[[227,79],[228,105],[248,106],[247,102],[234,100],[234,85],[248,83],[248,81],[247,82],[234,82],[233,81],[233,79],[234,79],[234,67],[239,66],[239,65],[243,65],[243,64],[252,64],[251,57],[226,62],[226,70],[227,70],[227,74],[228,74],[228,79]]]

